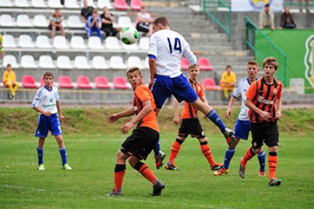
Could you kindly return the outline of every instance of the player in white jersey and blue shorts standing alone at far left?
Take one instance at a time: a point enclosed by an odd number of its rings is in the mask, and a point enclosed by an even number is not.
[[[37,146],[38,169],[40,171],[45,170],[43,163],[43,146],[45,144],[45,138],[47,137],[48,131],[50,131],[57,139],[63,169],[72,170],[67,162],[66,146],[64,145],[61,125],[59,122],[59,117],[61,121],[64,121],[64,116],[61,114],[58,88],[56,86],[52,86],[54,79],[52,72],[45,72],[43,77],[45,85],[38,89],[31,104],[31,107],[39,113],[38,127],[35,133],[35,137],[39,137]]]

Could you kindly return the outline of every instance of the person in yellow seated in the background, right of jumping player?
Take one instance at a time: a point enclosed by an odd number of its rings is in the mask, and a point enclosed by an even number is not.
[[[223,72],[223,75],[221,76],[220,79],[220,86],[223,89],[223,96],[225,99],[229,99],[230,97],[230,93],[232,93],[232,91],[234,90],[235,86],[236,86],[236,82],[237,82],[237,77],[234,74],[234,72],[232,72],[232,67],[230,65],[227,65],[225,67],[225,72]]]

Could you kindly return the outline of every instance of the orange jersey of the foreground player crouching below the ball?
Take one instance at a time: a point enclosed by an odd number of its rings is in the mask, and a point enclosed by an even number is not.
[[[137,127],[150,127],[151,129],[159,132],[159,127],[156,118],[156,104],[154,96],[147,86],[140,84],[135,88],[134,100],[133,100],[133,110],[137,115],[144,107],[144,102],[146,100],[151,100],[151,109],[153,109],[149,114],[144,116],[140,122],[137,123]]]

